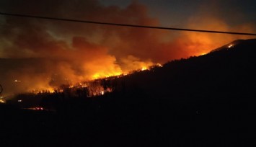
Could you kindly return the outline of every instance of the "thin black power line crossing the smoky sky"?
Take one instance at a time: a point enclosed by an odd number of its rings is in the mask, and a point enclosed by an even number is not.
[[[58,21],[66,21],[66,22],[81,22],[88,24],[103,24],[103,25],[115,25],[120,27],[141,27],[141,28],[149,28],[149,29],[159,29],[159,30],[176,30],[176,31],[188,31],[188,32],[207,32],[207,33],[219,33],[219,34],[230,34],[230,35],[251,35],[256,36],[256,33],[247,33],[247,32],[225,32],[225,31],[216,31],[216,30],[194,30],[194,29],[185,29],[185,28],[175,28],[175,27],[154,27],[154,26],[146,26],[146,25],[135,25],[135,24],[119,24],[119,23],[110,23],[110,22],[94,22],[88,20],[79,20],[79,19],[65,19],[65,18],[56,18],[56,17],[40,17],[34,15],[26,15],[26,14],[10,14],[0,12],[1,15],[12,16],[12,17],[27,17],[27,18],[35,18],[35,19],[50,19],[50,20],[58,20]]]

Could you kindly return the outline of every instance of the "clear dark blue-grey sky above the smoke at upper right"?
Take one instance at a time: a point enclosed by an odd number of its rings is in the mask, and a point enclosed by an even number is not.
[[[121,7],[131,0],[100,0],[106,6]],[[215,15],[231,25],[256,23],[254,0],[138,0],[149,8],[149,14],[159,19],[162,26],[184,27],[194,15]]]

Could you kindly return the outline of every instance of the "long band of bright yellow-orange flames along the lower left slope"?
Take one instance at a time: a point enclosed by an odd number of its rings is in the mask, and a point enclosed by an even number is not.
[[[31,89],[27,89],[27,92],[31,92],[33,94],[42,94],[42,93],[54,93],[54,92],[65,92],[67,89],[69,89],[69,92],[74,92],[76,94],[76,90],[85,90],[87,89],[88,97],[95,97],[99,95],[104,95],[106,93],[112,92],[112,87],[106,85],[102,85],[105,80],[110,80],[112,78],[120,78],[123,76],[126,76],[128,74],[133,74],[135,72],[140,71],[154,71],[154,68],[161,68],[162,64],[160,63],[140,63],[136,64],[138,67],[137,70],[125,72],[122,71],[120,68],[115,70],[111,69],[110,71],[107,71],[106,69],[103,69],[102,71],[97,71],[94,74],[92,74],[91,78],[89,79],[79,79],[74,80],[72,77],[66,78],[67,76],[63,77],[62,79],[53,77],[52,79],[47,78],[47,81],[56,81],[57,83],[60,82],[60,85],[57,86],[51,86],[50,84],[41,84],[38,82],[37,85],[33,86]],[[135,67],[135,66],[134,66]],[[59,80],[59,81],[58,81]],[[103,80],[103,81],[102,81]],[[61,84],[61,82],[63,82]],[[66,82],[69,81],[69,82]],[[21,82],[19,80],[14,80],[14,82]],[[65,83],[66,82],[66,83]],[[32,86],[32,84],[31,84]],[[1,99],[1,102],[4,102]],[[21,99],[18,100],[18,102],[22,102]]]

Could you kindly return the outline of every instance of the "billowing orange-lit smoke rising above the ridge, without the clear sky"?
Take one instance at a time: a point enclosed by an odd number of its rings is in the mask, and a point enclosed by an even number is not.
[[[38,9],[24,9],[27,4]],[[100,1],[48,1],[47,4],[45,1],[6,1],[1,4],[1,10],[123,24],[160,24],[138,1],[124,8],[105,6]],[[4,58],[0,60],[0,82],[5,94],[35,89],[53,91],[61,84],[128,74],[156,63],[203,55],[237,38],[249,38],[198,32],[174,34],[164,30],[19,17],[1,17],[0,20],[0,58]],[[187,20],[185,27],[254,31],[253,24],[229,25],[218,15],[205,13]]]

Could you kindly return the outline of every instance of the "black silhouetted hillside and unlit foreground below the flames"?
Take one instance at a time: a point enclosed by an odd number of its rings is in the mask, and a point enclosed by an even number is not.
[[[115,90],[101,96],[46,94],[42,105],[50,104],[56,112],[0,107],[5,112],[1,124],[6,138],[1,143],[252,145],[256,132],[256,40],[239,40],[228,47],[171,61],[162,68],[103,79]]]

